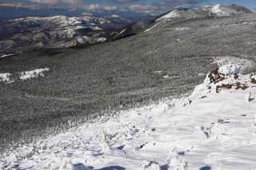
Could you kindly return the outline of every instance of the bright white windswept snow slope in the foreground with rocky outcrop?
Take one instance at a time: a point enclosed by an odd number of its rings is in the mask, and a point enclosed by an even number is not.
[[[238,68],[225,65],[232,67]],[[210,72],[190,97],[102,117],[21,146],[0,164],[3,169],[256,169],[256,76],[224,75],[223,68]],[[237,83],[248,87],[234,89]]]

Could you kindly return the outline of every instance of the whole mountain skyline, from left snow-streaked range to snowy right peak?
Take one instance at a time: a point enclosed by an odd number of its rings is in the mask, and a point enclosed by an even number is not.
[[[54,16],[0,20],[0,56],[37,48],[62,48],[76,45],[94,45],[126,38],[157,26],[163,20],[226,17],[251,13],[243,6],[176,7],[160,16],[146,15],[138,21],[118,15],[95,17]]]

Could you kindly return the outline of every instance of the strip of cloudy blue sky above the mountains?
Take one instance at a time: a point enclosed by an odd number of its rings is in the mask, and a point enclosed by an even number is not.
[[[256,0],[0,0],[0,7],[10,3],[13,7],[33,10],[54,7],[91,13],[126,14],[162,14],[175,6],[205,6],[218,3],[246,6],[254,12],[256,9]]]

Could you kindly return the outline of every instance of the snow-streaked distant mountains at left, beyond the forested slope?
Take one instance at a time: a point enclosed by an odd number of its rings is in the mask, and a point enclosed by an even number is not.
[[[15,18],[0,20],[2,53],[17,53],[42,47],[70,47],[91,45],[111,40],[116,30],[134,22],[118,15],[81,18],[54,16],[48,18]],[[1,52],[0,52],[1,53]]]

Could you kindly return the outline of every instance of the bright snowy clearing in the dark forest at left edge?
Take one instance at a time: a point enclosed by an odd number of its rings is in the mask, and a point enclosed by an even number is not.
[[[0,80],[5,83],[11,83],[14,82],[15,79],[20,79],[22,81],[25,81],[26,79],[35,78],[39,76],[44,76],[43,72],[49,71],[48,68],[45,69],[34,69],[30,71],[25,71],[21,73],[17,73],[18,77],[14,77],[12,73],[0,73]]]

